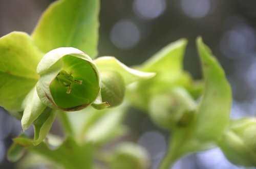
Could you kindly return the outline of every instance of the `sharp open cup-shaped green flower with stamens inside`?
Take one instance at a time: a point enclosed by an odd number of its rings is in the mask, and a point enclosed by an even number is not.
[[[98,69],[92,59],[72,47],[46,53],[37,66],[37,94],[53,109],[75,111],[95,101],[100,91]]]

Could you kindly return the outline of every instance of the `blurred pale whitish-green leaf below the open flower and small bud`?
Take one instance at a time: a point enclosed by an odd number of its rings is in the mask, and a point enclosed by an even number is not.
[[[127,106],[127,103],[124,102],[118,107],[103,110],[87,107],[76,113],[66,112],[66,115],[79,142],[83,143],[91,138],[90,140],[96,144],[102,144],[124,134],[120,131],[126,130],[121,123],[126,114]]]

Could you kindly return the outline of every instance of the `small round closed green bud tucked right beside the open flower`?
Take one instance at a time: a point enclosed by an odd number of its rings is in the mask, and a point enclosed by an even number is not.
[[[123,77],[115,71],[104,71],[100,75],[102,102],[108,102],[111,107],[120,105],[125,93]]]

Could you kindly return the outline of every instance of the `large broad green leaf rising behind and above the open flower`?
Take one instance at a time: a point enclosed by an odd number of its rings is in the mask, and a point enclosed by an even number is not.
[[[98,0],[60,0],[41,16],[32,38],[44,52],[75,47],[95,58],[98,44]]]

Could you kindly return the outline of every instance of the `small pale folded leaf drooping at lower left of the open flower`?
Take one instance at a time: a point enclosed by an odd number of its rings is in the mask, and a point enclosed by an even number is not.
[[[33,88],[24,100],[25,108],[22,117],[22,128],[27,130],[29,126],[41,115],[46,106],[39,99],[36,89]]]

